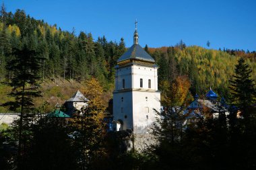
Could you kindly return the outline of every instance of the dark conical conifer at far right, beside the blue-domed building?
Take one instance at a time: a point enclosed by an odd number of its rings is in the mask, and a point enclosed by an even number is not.
[[[235,67],[235,74],[230,81],[231,101],[241,110],[243,116],[249,117],[247,111],[253,104],[256,97],[255,83],[251,77],[253,71],[245,62],[245,58],[240,58]]]

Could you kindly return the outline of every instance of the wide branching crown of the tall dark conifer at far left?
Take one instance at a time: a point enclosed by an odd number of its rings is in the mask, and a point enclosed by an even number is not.
[[[33,105],[34,97],[40,96],[40,91],[38,91],[40,81],[38,60],[40,57],[35,50],[30,50],[26,45],[21,50],[13,48],[13,58],[9,60],[9,67],[7,67],[12,76],[11,81],[7,84],[13,87],[9,95],[15,97],[15,101],[5,103],[5,105],[10,106],[10,110],[17,112],[22,107],[28,111]]]

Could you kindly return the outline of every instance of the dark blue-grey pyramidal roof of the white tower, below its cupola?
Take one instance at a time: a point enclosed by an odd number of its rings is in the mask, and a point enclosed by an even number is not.
[[[139,44],[133,44],[131,48],[125,52],[118,60],[117,62],[121,62],[128,59],[137,59],[137,60],[143,60],[148,62],[155,62],[154,58],[150,56]]]

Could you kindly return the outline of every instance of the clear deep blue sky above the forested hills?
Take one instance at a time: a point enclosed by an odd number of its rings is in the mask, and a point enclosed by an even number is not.
[[[3,0],[1,0],[3,2]],[[133,43],[135,19],[139,44],[173,46],[181,39],[187,46],[256,50],[256,1],[91,1],[5,0],[7,11],[24,9],[62,30],[91,32],[94,39],[106,36],[126,46]]]

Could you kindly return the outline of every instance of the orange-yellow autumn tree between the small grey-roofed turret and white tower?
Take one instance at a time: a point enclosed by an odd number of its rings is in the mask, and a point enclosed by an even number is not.
[[[88,107],[83,116],[76,116],[71,120],[73,146],[77,147],[77,161],[82,169],[91,169],[100,159],[106,156],[104,137],[106,124],[103,101],[103,89],[97,79],[92,78],[85,82],[81,91],[89,99]],[[73,134],[74,134],[73,133]]]

